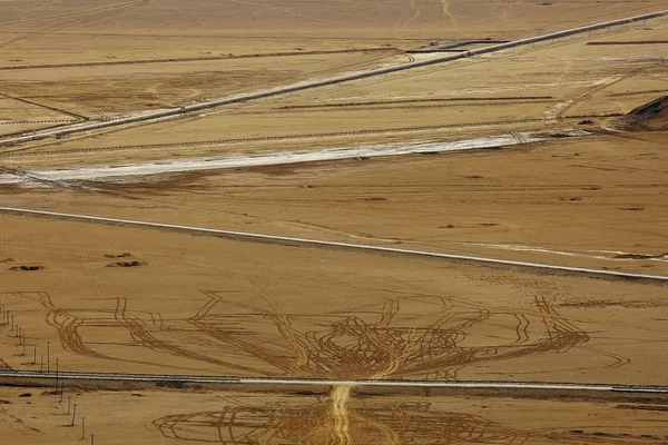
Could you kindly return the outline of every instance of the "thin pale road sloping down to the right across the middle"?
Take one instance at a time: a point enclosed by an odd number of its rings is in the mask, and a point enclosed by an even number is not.
[[[655,280],[655,281],[659,281],[659,283],[668,281],[668,276],[661,276],[661,275],[647,275],[647,274],[635,274],[635,273],[625,273],[625,271],[617,271],[617,270],[589,269],[589,268],[583,268],[583,267],[557,266],[557,265],[547,265],[547,264],[540,264],[540,263],[527,263],[527,261],[514,261],[514,260],[498,259],[498,258],[475,257],[475,256],[469,256],[469,255],[440,254],[440,253],[435,253],[435,251],[425,251],[425,250],[399,249],[399,248],[394,248],[394,247],[369,246],[369,245],[350,244],[350,243],[326,241],[326,240],[320,240],[320,239],[306,239],[306,238],[294,238],[294,237],[276,236],[276,235],[252,234],[252,233],[245,233],[245,231],[209,229],[209,228],[204,228],[204,227],[179,226],[179,225],[174,225],[174,224],[160,224],[160,222],[149,222],[149,221],[137,221],[137,220],[131,220],[131,219],[105,218],[105,217],[88,216],[88,215],[63,214],[63,212],[58,212],[58,211],[31,210],[31,209],[22,209],[22,208],[13,208],[13,207],[0,207],[0,212],[23,215],[23,216],[51,217],[51,218],[68,219],[68,220],[85,221],[85,222],[98,222],[98,224],[106,224],[106,225],[126,225],[126,226],[154,228],[154,229],[167,229],[167,230],[181,231],[181,233],[186,233],[186,234],[213,235],[213,236],[217,236],[220,238],[227,238],[227,239],[233,239],[233,240],[249,241],[249,243],[263,243],[263,244],[277,244],[277,245],[283,245],[283,246],[292,246],[292,247],[333,248],[333,249],[344,250],[344,251],[366,251],[366,253],[372,253],[372,254],[375,253],[375,254],[403,255],[403,256],[423,257],[423,258],[436,258],[436,259],[445,259],[445,260],[474,263],[474,264],[481,264],[481,265],[485,265],[485,266],[521,267],[521,268],[527,268],[530,270],[578,274],[578,275],[584,275],[584,276],[598,276],[598,277],[622,278],[622,279],[645,279],[645,280]]]

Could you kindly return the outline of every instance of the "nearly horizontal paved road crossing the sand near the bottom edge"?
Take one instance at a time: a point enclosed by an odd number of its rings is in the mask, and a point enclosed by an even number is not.
[[[0,370],[0,380],[100,380],[100,382],[146,382],[146,383],[193,383],[193,384],[252,384],[252,385],[295,385],[295,386],[379,386],[416,388],[469,388],[469,389],[543,389],[579,392],[625,392],[668,394],[668,386],[581,384],[557,382],[498,382],[498,380],[332,380],[318,378],[281,377],[227,377],[161,374],[120,373],[40,373],[30,370]]]

